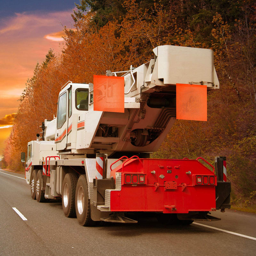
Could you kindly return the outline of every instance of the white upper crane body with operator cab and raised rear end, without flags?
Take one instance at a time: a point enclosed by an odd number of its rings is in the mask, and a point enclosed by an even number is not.
[[[124,113],[94,111],[92,84],[66,84],[45,140],[55,140],[63,154],[156,151],[176,120],[176,84],[212,90],[219,81],[212,50],[164,45],[153,51],[155,59],[123,72]]]

